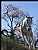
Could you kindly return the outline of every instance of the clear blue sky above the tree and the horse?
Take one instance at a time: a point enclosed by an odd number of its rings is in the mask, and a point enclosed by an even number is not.
[[[4,4],[12,3],[14,6],[20,6],[22,11],[29,12],[30,16],[33,17],[33,22],[35,23],[38,19],[38,1],[2,1],[1,2],[1,13],[3,13]],[[3,24],[2,24],[3,25]],[[34,30],[34,29],[33,29]]]

